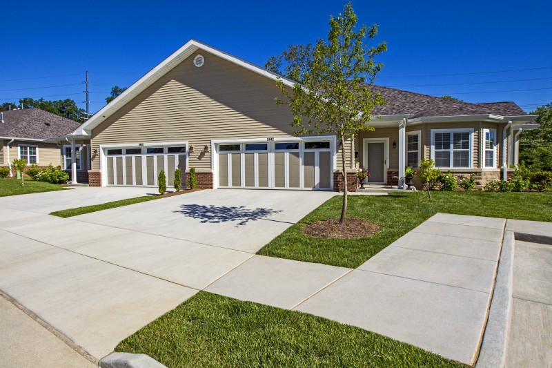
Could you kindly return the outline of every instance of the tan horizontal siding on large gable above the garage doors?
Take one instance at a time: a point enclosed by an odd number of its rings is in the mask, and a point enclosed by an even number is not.
[[[291,135],[293,117],[275,103],[275,81],[203,50],[201,55],[204,66],[194,66],[192,55],[95,128],[92,151],[109,144],[188,141],[195,147],[190,166],[209,169],[211,139]],[[92,168],[99,168],[99,155]]]

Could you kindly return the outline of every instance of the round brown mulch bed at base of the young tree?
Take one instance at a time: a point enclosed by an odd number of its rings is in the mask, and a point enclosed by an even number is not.
[[[339,219],[320,220],[314,224],[304,226],[302,229],[306,235],[317,238],[368,238],[374,235],[382,226],[360,218],[348,218],[343,225],[339,225]]]

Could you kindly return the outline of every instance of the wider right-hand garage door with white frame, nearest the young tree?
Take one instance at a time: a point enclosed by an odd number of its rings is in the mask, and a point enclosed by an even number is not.
[[[331,190],[330,141],[215,145],[219,188]]]

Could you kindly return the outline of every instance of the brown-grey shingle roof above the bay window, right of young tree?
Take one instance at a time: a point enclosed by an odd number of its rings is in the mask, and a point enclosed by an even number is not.
[[[388,102],[385,106],[376,106],[374,115],[410,114],[409,119],[430,116],[460,116],[495,114],[502,116],[528,115],[514,102],[492,102],[489,104],[470,104],[422,95],[421,93],[398,90],[373,84],[366,85],[373,92],[381,93]]]

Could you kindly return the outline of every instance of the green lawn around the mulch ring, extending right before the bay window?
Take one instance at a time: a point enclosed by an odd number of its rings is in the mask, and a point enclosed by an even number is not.
[[[258,254],[290,260],[359,267],[373,255],[414,229],[435,213],[456,213],[552,222],[552,193],[433,192],[389,193],[387,196],[351,195],[348,217],[380,224],[371,238],[351,240],[313,238],[303,226],[339,218],[342,197],[333,197],[291,226]]]

